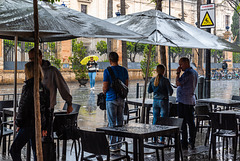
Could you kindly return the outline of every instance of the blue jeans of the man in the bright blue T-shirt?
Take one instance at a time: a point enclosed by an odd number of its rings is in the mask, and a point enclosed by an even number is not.
[[[113,101],[106,102],[108,126],[122,126],[123,125],[123,109],[125,101],[121,98],[117,98]],[[110,136],[110,144],[122,141],[122,137]]]

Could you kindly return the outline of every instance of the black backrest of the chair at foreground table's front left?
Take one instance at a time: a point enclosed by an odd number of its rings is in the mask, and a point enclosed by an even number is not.
[[[95,155],[108,154],[108,141],[104,132],[80,130],[82,151]]]

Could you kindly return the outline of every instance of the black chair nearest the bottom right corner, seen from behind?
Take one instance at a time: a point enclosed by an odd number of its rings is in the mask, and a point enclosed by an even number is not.
[[[238,139],[238,126],[235,114],[226,113],[210,113],[211,119],[211,143],[209,147],[209,160],[211,159],[211,150],[213,145],[216,147],[216,136],[223,138],[222,156],[224,158],[224,142],[225,139],[233,139],[234,160],[236,160],[237,153],[237,139]],[[215,150],[215,149],[214,149]]]

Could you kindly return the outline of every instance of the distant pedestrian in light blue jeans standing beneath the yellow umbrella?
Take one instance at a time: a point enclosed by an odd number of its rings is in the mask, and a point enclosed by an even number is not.
[[[95,89],[95,78],[96,74],[98,72],[98,64],[95,60],[93,60],[93,57],[90,57],[90,60],[87,63],[87,69],[88,69],[88,76],[90,79],[90,86],[91,90]]]

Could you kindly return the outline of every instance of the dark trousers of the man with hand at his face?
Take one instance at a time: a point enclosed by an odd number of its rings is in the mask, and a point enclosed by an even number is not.
[[[189,143],[191,145],[195,144],[196,138],[196,126],[194,122],[194,105],[185,105],[182,103],[178,104],[178,116],[183,118],[182,124],[182,146],[188,146],[188,130],[189,129]]]

